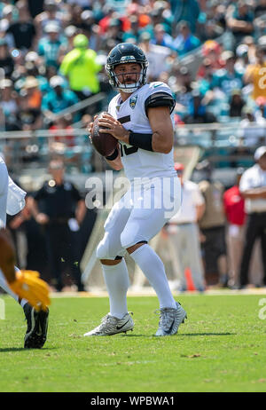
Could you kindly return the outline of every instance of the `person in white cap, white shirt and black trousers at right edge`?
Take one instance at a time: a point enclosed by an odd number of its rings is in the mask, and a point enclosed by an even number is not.
[[[248,268],[257,238],[262,244],[263,284],[266,286],[266,146],[254,153],[253,167],[246,170],[240,179],[239,191],[245,198],[247,214],[246,238],[241,258],[240,288],[248,284]]]

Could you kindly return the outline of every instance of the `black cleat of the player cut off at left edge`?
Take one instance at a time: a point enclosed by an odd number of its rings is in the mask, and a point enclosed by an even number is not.
[[[24,347],[26,349],[41,349],[46,341],[49,309],[35,311],[30,304],[25,304],[23,310],[27,319]]]

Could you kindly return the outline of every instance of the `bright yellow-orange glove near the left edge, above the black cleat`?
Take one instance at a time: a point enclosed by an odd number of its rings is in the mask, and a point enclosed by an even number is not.
[[[45,311],[46,307],[51,304],[49,288],[39,276],[39,272],[35,271],[16,272],[16,280],[9,286],[21,299],[27,299],[36,311]]]

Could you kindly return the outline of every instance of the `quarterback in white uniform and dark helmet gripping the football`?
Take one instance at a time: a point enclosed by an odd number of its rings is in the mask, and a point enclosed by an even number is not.
[[[106,160],[114,170],[124,168],[130,188],[114,204],[106,219],[104,238],[97,248],[110,312],[86,336],[114,335],[134,327],[127,307],[129,272],[123,258],[126,251],[145,273],[159,298],[160,322],[156,335],[175,335],[186,318],[183,307],[171,294],[160,257],[148,245],[180,207],[181,186],[173,156],[171,113],[175,100],[167,84],[146,83],[147,66],[145,53],[132,43],[116,45],[106,61],[109,82],[119,93],[109,104],[109,114],[98,123],[103,128],[101,132],[108,132],[119,141]],[[89,132],[92,125],[90,122]],[[140,184],[141,178],[147,183]],[[154,179],[159,181],[159,189],[150,184]],[[156,201],[161,197],[159,208]],[[145,205],[148,198],[150,207]],[[172,203],[170,212],[166,202]]]

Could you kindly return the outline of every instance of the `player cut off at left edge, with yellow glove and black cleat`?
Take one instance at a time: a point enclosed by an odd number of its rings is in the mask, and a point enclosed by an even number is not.
[[[38,272],[20,271],[15,251],[5,229],[6,212],[14,215],[24,206],[24,191],[8,175],[0,157],[0,287],[20,303],[27,319],[25,348],[42,348],[46,341],[50,304],[49,288]]]

